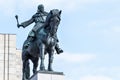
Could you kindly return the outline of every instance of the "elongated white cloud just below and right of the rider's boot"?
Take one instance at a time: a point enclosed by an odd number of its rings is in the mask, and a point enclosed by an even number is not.
[[[56,59],[64,60],[70,63],[80,63],[80,62],[88,62],[96,59],[95,54],[81,54],[81,53],[69,53],[64,52],[58,56],[55,56]]]

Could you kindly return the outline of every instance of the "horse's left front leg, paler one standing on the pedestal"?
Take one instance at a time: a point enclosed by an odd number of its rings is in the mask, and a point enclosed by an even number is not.
[[[44,66],[44,59],[45,59],[45,45],[42,44],[39,48],[40,50],[40,59],[41,59],[41,62],[40,62],[40,70],[44,71],[45,70],[45,66]]]

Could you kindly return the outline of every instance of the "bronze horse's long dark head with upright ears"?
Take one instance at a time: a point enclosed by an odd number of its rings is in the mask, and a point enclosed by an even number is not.
[[[58,9],[53,9],[50,11],[48,14],[49,18],[49,33],[51,35],[54,35],[57,32],[58,25],[60,23],[60,15],[61,15],[61,10],[59,11]]]

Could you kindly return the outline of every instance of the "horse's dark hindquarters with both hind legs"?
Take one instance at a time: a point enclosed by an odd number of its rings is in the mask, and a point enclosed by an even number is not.
[[[23,80],[30,77],[29,59],[33,62],[33,73],[37,71],[39,60],[39,49],[36,47],[36,42],[34,41],[29,46],[26,46],[26,43],[28,43],[27,40],[25,40],[22,48]]]

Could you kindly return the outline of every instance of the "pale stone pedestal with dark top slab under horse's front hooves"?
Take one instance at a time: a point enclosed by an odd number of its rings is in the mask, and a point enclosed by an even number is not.
[[[63,72],[38,71],[29,80],[64,80]]]

